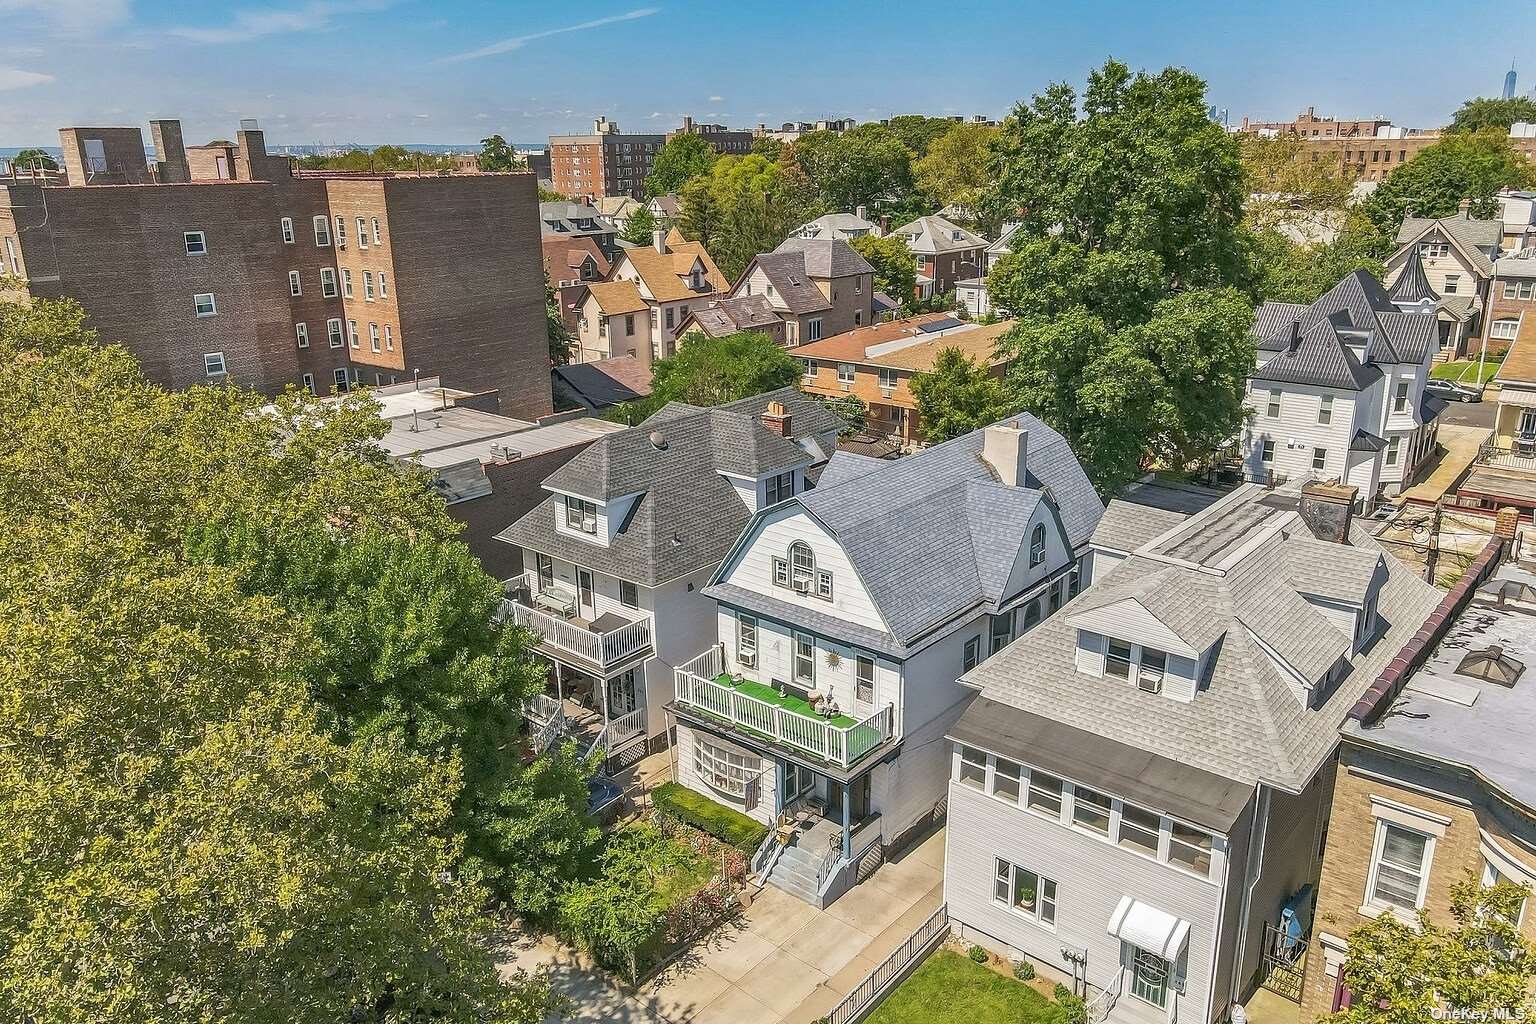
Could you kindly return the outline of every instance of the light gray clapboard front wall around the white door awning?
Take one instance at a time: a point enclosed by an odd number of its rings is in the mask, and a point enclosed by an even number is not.
[[[994,858],[1057,883],[1057,926],[1046,929],[992,900]],[[1109,920],[1121,897],[1137,897],[1189,921],[1181,1024],[1209,1024],[1212,950],[1223,889],[1081,835],[969,786],[949,785],[945,903],[949,918],[1012,949],[1064,969],[1061,947],[1087,950],[1095,987],[1120,972],[1120,941]],[[1172,1003],[1172,1001],[1170,1001]]]

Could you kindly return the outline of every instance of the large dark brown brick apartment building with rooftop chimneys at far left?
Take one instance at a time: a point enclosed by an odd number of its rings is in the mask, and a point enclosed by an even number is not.
[[[0,183],[0,259],[166,387],[442,376],[551,410],[535,177],[296,172],[253,121],[60,130],[68,186]]]

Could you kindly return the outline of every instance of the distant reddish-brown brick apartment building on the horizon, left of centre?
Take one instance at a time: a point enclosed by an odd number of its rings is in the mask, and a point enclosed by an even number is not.
[[[550,181],[561,195],[596,200],[604,195],[645,198],[645,178],[656,152],[676,135],[699,135],[717,154],[740,155],[753,134],[723,124],[697,124],[691,117],[665,135],[625,135],[617,121],[599,117],[591,135],[550,135]]]

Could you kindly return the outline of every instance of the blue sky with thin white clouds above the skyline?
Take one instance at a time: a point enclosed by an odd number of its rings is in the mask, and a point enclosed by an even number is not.
[[[605,114],[757,121],[1001,115],[1114,55],[1183,64],[1210,101],[1281,120],[1442,123],[1531,52],[1536,6],[1444,0],[559,5],[492,0],[0,0],[0,147],[65,124],[180,117],[189,143],[255,117],[275,143],[536,141]],[[1493,40],[1493,41],[1490,41]],[[1536,86],[1536,57],[1521,61]]]

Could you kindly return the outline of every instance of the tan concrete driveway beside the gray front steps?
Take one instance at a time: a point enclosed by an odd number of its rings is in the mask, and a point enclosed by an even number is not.
[[[826,910],[763,889],[740,918],[645,986],[639,1001],[679,1024],[814,1021],[938,909],[943,874],[938,831]]]

